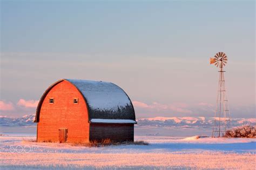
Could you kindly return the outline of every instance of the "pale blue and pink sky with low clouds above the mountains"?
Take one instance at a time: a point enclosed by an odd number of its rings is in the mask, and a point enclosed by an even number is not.
[[[70,78],[119,85],[137,118],[213,117],[223,51],[231,117],[255,117],[254,1],[0,2],[0,115]]]

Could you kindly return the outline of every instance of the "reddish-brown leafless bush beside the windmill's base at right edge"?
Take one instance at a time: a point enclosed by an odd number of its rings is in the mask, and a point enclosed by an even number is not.
[[[256,130],[254,126],[246,125],[227,131],[225,138],[256,138]]]

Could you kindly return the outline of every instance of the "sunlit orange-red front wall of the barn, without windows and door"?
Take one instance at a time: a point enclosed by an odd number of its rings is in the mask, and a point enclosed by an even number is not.
[[[54,98],[54,104],[49,103]],[[73,104],[78,98],[78,104]],[[46,95],[37,126],[37,141],[59,141],[59,128],[68,128],[68,142],[89,141],[86,103],[75,86],[62,81]]]

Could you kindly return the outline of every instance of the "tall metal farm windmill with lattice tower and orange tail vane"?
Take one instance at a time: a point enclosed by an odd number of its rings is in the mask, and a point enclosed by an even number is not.
[[[230,109],[227,103],[227,94],[224,79],[224,66],[227,64],[227,56],[224,52],[218,52],[210,58],[210,64],[219,68],[219,86],[217,94],[217,105],[215,110],[212,138],[224,136],[230,128]]]

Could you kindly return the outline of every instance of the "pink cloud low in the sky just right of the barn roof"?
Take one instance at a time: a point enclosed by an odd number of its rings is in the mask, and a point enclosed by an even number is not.
[[[159,104],[157,102],[153,102],[151,105],[145,104],[141,101],[132,101],[134,107],[137,108],[145,108],[147,110],[152,111],[174,111],[180,113],[192,113],[191,110],[188,110],[187,105],[184,103],[173,103],[173,104]]]

